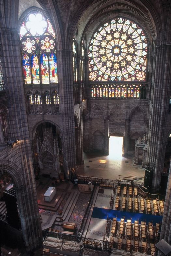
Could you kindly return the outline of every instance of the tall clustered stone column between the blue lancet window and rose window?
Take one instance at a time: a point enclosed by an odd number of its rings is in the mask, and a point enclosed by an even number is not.
[[[59,50],[59,81],[61,104],[60,112],[63,117],[63,159],[64,172],[66,178],[76,166],[75,149],[75,125],[74,125],[74,99],[73,99],[73,69],[72,50]]]

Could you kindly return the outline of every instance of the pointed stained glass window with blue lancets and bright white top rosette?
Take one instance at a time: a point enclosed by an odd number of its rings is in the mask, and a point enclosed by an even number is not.
[[[39,12],[27,15],[20,28],[25,84],[58,83],[55,33]]]

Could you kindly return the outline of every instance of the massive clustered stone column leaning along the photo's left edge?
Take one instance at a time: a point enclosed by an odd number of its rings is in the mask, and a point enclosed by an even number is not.
[[[0,1],[0,8],[4,10],[1,16],[0,51],[5,91],[8,98],[8,134],[13,139],[19,139],[16,146],[18,152],[13,156],[13,164],[18,167],[25,184],[23,190],[16,192],[18,210],[21,216],[21,227],[26,248],[28,251],[32,251],[42,245],[42,232],[29,141],[18,40],[19,31],[18,27],[15,28],[15,25],[18,26],[18,2],[12,0]],[[15,20],[15,17],[17,20]],[[15,149],[10,151],[12,154]]]

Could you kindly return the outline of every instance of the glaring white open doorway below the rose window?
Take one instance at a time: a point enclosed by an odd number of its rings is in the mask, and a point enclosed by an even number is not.
[[[123,154],[123,137],[110,136],[109,157],[111,159],[121,159]]]

